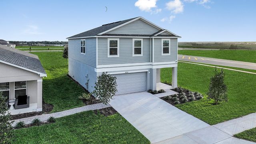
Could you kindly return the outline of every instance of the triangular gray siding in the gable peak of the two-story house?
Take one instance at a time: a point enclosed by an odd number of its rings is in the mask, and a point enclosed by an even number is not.
[[[159,30],[153,26],[150,26],[142,20],[136,20],[130,24],[126,24],[120,28],[112,30],[107,34],[154,34]]]

